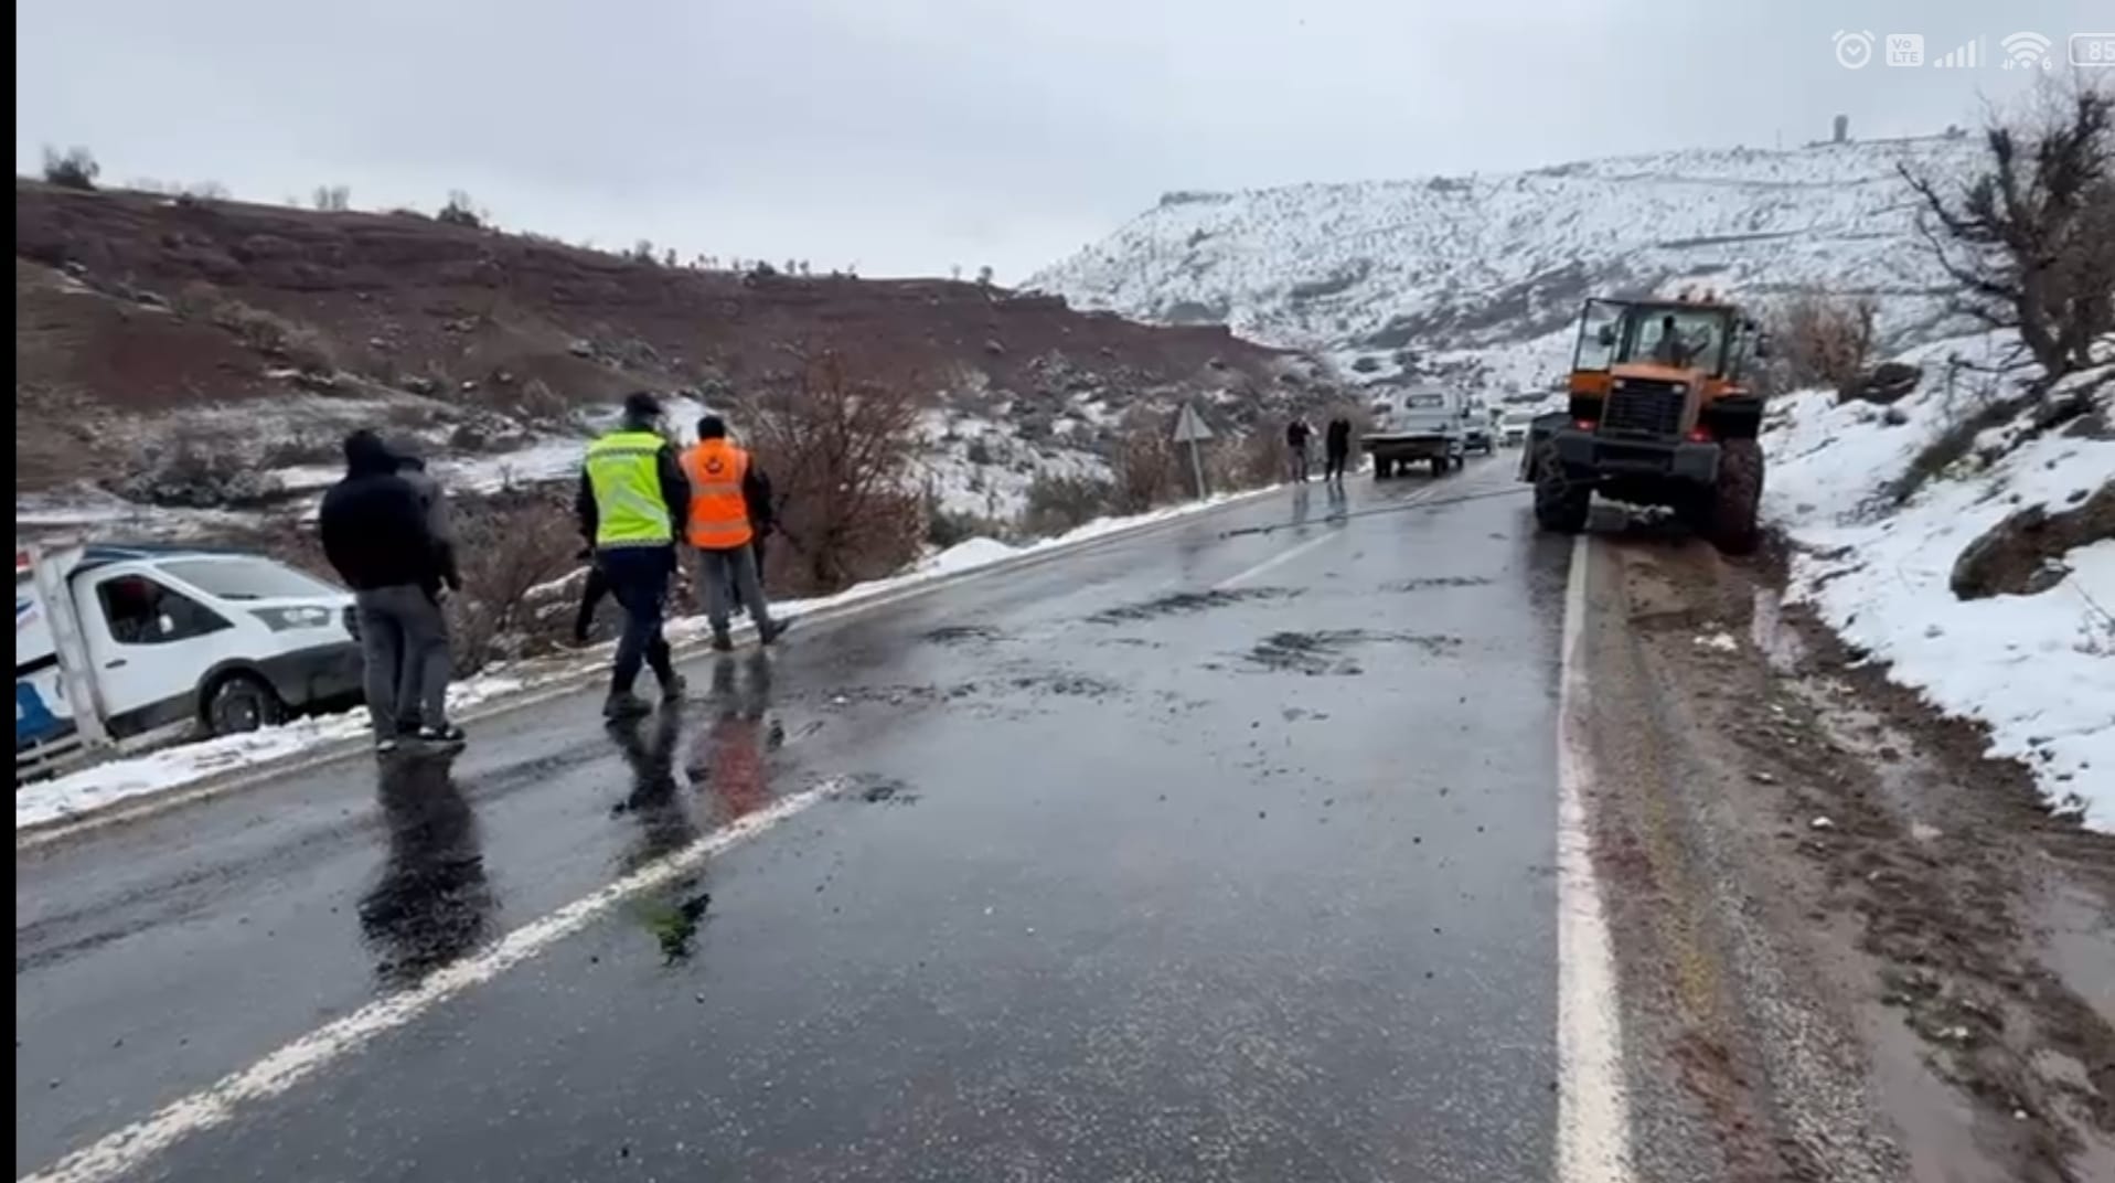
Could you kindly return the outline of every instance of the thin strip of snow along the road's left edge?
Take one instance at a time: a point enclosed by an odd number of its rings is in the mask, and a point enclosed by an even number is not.
[[[878,595],[888,595],[895,590],[903,590],[916,584],[926,584],[948,576],[960,576],[964,571],[990,567],[1007,559],[1019,559],[1024,554],[1034,554],[1060,546],[1077,546],[1081,542],[1102,538],[1106,533],[1119,533],[1125,529],[1138,529],[1153,523],[1163,523],[1170,518],[1203,512],[1244,495],[1246,493],[1229,493],[1212,497],[1208,502],[1193,502],[1184,506],[1170,506],[1165,510],[1153,510],[1148,514],[1098,518],[1070,533],[1058,538],[1043,538],[1024,546],[1009,546],[992,538],[971,538],[967,542],[950,546],[948,550],[928,554],[901,576],[871,580],[859,586],[850,586],[838,595],[780,601],[772,605],[772,612],[778,618],[797,620],[799,616],[812,612],[842,607],[848,603],[873,599]],[[700,641],[706,635],[711,635],[711,629],[704,616],[683,616],[668,622],[668,639],[675,641],[677,645],[687,641]],[[560,660],[518,662],[514,667],[499,667],[491,673],[463,679],[448,688],[448,709],[453,713],[467,713],[476,707],[497,705],[510,696],[529,690],[580,679],[582,675],[590,675],[592,671],[603,667],[603,662],[607,660],[607,650],[609,650],[607,645],[601,645],[586,654],[571,654]],[[237,772],[247,766],[266,764],[273,760],[288,760],[307,751],[319,751],[324,747],[341,743],[355,743],[366,739],[366,734],[368,734],[366,711],[341,711],[334,715],[294,720],[290,724],[262,728],[247,734],[207,739],[199,743],[182,743],[173,747],[163,747],[159,751],[148,751],[144,756],[108,760],[104,764],[78,768],[63,777],[55,777],[51,781],[36,781],[15,789],[15,830],[21,830],[25,825],[42,825],[49,821],[76,817],[82,813],[93,813],[118,804],[127,798],[178,789],[197,781]]]

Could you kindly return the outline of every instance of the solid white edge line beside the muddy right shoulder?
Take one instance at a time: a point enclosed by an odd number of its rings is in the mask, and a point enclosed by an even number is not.
[[[1586,535],[1571,544],[1557,690],[1557,1181],[1631,1183],[1616,954],[1586,830]]]

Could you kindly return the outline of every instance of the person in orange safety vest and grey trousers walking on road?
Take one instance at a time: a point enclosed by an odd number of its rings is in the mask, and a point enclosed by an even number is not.
[[[740,599],[757,624],[757,643],[770,645],[785,633],[764,603],[764,580],[757,576],[757,552],[751,546],[757,525],[751,506],[761,504],[755,463],[749,453],[728,442],[728,421],[719,415],[698,419],[698,442],[683,453],[683,478],[689,480],[689,544],[698,548],[698,584],[704,588],[704,616],[713,624],[713,648],[734,648],[728,637],[730,599]]]

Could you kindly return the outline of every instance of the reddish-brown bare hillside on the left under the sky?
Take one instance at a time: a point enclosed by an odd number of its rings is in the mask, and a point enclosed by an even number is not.
[[[17,495],[110,489],[171,438],[315,466],[379,421],[512,453],[626,389],[713,402],[825,347],[941,396],[943,419],[1049,436],[1070,417],[1064,444],[1087,457],[1132,406],[1212,396],[1252,419],[1318,375],[1225,326],[977,284],[736,275],[417,214],[15,186]]]

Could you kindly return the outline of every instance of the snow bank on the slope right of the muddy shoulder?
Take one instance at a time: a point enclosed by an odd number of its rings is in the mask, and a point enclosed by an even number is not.
[[[1929,375],[1929,370],[1927,370]],[[2052,804],[2115,830],[2115,542],[2064,554],[2037,595],[1956,599],[1961,552],[2030,506],[2060,512],[2115,483],[2115,440],[2016,421],[1895,506],[1889,487],[1965,406],[1944,377],[1893,408],[1802,392],[1772,404],[1764,514],[1796,544],[1787,595],[1813,605],[1889,677],[1990,726]],[[2115,419],[2115,385],[2096,394]]]

